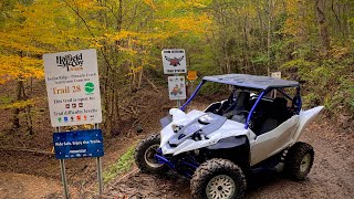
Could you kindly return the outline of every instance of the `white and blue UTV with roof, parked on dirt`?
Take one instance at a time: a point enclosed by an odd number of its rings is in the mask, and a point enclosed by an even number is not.
[[[232,92],[205,111],[185,113],[206,83],[227,84]],[[300,84],[294,81],[247,74],[205,76],[190,98],[160,121],[160,134],[140,140],[135,161],[142,171],[174,169],[191,178],[194,198],[243,198],[248,176],[261,168],[283,165],[289,178],[306,177],[314,151],[299,138],[322,108],[302,111]]]

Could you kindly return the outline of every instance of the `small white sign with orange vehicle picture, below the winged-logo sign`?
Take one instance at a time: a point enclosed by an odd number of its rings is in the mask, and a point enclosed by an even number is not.
[[[185,76],[168,76],[169,100],[186,98]]]

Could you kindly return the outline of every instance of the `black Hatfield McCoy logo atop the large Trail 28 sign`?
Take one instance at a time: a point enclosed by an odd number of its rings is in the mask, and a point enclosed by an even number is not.
[[[64,56],[56,56],[56,64],[59,67],[66,67],[67,71],[83,70],[82,53],[76,55],[66,54]]]

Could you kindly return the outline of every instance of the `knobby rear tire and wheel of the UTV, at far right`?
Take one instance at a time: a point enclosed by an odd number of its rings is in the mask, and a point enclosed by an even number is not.
[[[288,150],[284,174],[292,180],[304,180],[310,172],[314,159],[314,151],[306,143],[295,143]]]

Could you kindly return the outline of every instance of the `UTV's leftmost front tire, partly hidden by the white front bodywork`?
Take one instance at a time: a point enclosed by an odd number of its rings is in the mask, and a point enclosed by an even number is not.
[[[143,172],[163,174],[168,167],[164,164],[158,164],[155,159],[155,154],[159,148],[160,137],[158,134],[150,135],[139,142],[135,149],[135,164]]]

